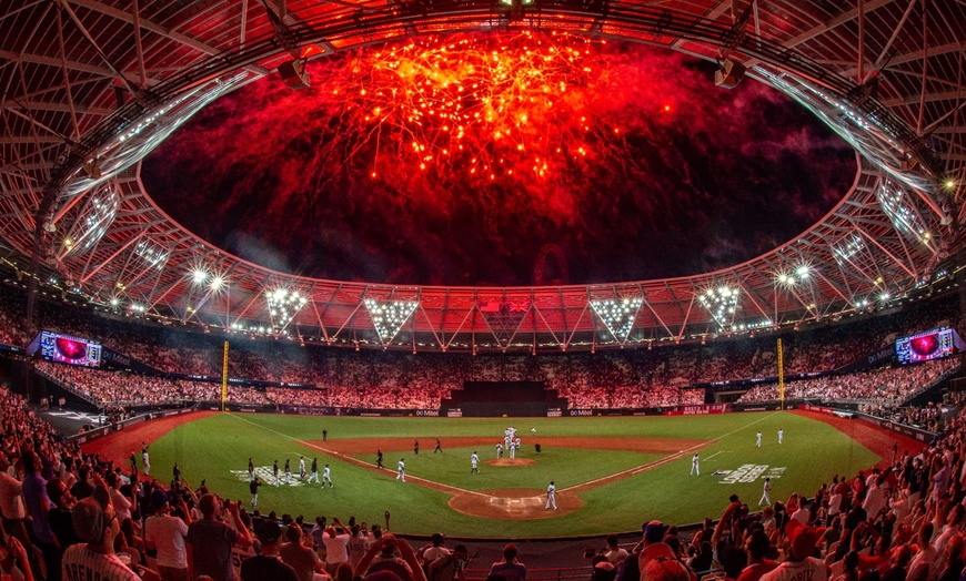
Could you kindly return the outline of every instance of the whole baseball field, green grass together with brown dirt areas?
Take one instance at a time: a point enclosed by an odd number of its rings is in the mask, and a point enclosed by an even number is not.
[[[495,446],[509,426],[522,446],[516,458],[504,452],[497,459]],[[437,438],[442,452],[434,451]],[[385,524],[390,511],[395,531],[476,538],[632,531],[651,519],[696,522],[717,517],[732,493],[754,507],[766,477],[772,500],[793,492],[811,497],[835,473],[854,476],[889,461],[894,444],[899,453],[917,447],[861,420],[804,411],[487,419],[198,412],[142,424],[87,449],[125,462],[141,441],[150,445],[151,477],[167,483],[177,461],[191,486],[204,479],[249,507],[251,457],[264,482],[262,512]],[[375,468],[378,450],[382,470]],[[479,473],[471,473],[474,451]],[[691,473],[694,453],[701,476]],[[318,458],[320,476],[328,463],[334,488],[300,479],[300,456],[306,467]],[[275,487],[272,463],[279,461],[284,480],[285,459],[292,478]],[[405,482],[396,479],[400,459]],[[559,510],[545,509],[551,480]]]

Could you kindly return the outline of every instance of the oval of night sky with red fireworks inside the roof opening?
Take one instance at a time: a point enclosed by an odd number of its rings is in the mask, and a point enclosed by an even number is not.
[[[313,62],[305,91],[271,75],[209,105],[144,161],[149,194],[289,273],[584,284],[746,261],[855,176],[808,112],[751,79],[714,86],[713,63],[568,37],[405,42]]]

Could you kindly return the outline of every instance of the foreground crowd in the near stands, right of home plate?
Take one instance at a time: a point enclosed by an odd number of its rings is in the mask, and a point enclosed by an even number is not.
[[[927,410],[927,415],[934,414]],[[754,504],[733,495],[690,541],[650,521],[630,552],[610,539],[595,581],[958,581],[966,577],[966,414],[919,452],[829,475],[814,496]],[[767,485],[763,485],[767,492]],[[764,508],[762,506],[764,504]]]

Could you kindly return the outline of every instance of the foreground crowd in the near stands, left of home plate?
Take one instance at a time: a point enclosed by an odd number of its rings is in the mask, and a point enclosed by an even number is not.
[[[177,465],[162,485],[135,462],[83,452],[6,387],[0,406],[3,580],[351,581],[392,570],[400,581],[427,581],[427,572],[449,568],[449,577],[430,579],[453,581],[452,555],[462,559],[457,573],[469,561],[465,547],[414,550],[389,531],[388,513],[384,528],[355,517],[343,524],[318,516],[313,526],[263,514],[204,480],[193,488]]]

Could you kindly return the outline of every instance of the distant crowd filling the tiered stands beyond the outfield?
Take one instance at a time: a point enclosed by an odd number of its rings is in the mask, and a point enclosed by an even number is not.
[[[0,294],[0,320],[21,317],[23,293]],[[43,328],[101,340],[163,374],[218,377],[225,336],[189,332],[94,314],[90,307],[41,300]],[[859,316],[812,330],[718,337],[705,344],[598,350],[592,353],[501,354],[362,350],[301,346],[285,340],[228,336],[232,378],[298,384],[314,388],[254,389],[230,385],[228,400],[246,405],[296,405],[343,408],[436,409],[464,381],[543,381],[574,408],[654,408],[703,402],[693,384],[761,378],[776,375],[776,339],[782,338],[785,373],[835,369],[897,336],[957,320],[954,295],[914,302],[885,316]],[[849,319],[851,320],[851,319]],[[3,330],[11,343],[27,337],[16,325]],[[95,371],[39,364],[47,377],[92,402],[121,407],[219,401],[218,383],[171,379],[117,371]],[[930,367],[932,369],[932,367]],[[874,371],[868,375],[813,378],[786,384],[786,397],[808,399],[888,400],[899,405],[913,390],[928,384],[925,367]],[[912,374],[912,375],[910,375]],[[918,375],[917,375],[918,374]],[[777,398],[775,384],[758,385],[741,401]]]

